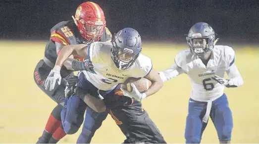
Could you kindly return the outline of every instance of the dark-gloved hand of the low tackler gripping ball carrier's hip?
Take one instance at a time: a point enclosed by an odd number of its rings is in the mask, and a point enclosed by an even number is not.
[[[66,81],[65,96],[70,97],[75,94],[74,89],[78,82],[78,76],[70,76]]]

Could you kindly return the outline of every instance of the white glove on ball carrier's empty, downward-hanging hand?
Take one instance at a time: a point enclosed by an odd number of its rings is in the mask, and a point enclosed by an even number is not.
[[[61,67],[55,66],[51,70],[49,76],[45,81],[45,90],[50,89],[50,91],[52,91],[55,87],[56,81],[57,81],[57,84],[60,85],[61,83],[60,69]]]

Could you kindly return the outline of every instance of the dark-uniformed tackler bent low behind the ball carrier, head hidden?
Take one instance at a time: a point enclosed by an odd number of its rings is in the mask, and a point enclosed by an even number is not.
[[[85,103],[94,111],[108,111],[117,126],[126,136],[123,144],[166,144],[155,123],[149,117],[148,112],[142,108],[142,103],[136,99],[124,96],[120,90],[121,84],[118,84],[113,90],[114,96],[105,96],[105,98],[100,96],[99,98],[89,94],[86,95],[81,88],[74,91],[77,82],[77,76],[68,78],[66,96],[69,97],[76,94],[79,97],[83,97],[81,95],[84,95]],[[143,86],[146,86],[146,84],[143,84]],[[84,133],[80,137],[85,137]],[[88,137],[88,139],[79,138],[77,143],[90,143],[91,139],[92,137]]]

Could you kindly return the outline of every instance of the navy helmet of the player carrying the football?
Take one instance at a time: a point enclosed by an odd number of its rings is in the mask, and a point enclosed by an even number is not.
[[[132,28],[124,28],[115,34],[112,41],[111,58],[119,69],[129,68],[142,50],[139,33]]]

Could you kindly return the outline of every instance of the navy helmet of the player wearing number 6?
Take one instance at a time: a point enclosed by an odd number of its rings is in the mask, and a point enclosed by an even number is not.
[[[191,27],[186,40],[193,54],[202,55],[214,48],[215,32],[207,23],[199,22]]]

